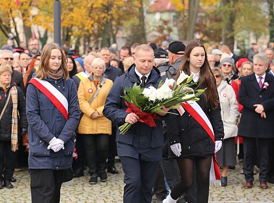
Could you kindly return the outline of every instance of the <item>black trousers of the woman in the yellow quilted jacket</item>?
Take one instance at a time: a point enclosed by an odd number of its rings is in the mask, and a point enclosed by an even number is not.
[[[96,173],[97,165],[106,168],[109,147],[108,134],[83,134],[89,173]]]

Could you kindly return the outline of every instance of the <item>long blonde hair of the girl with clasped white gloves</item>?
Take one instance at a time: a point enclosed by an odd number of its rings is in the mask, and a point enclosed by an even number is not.
[[[65,80],[68,80],[68,70],[66,66],[66,56],[62,51],[61,47],[56,43],[48,43],[44,46],[41,54],[39,69],[36,72],[36,77],[39,79],[44,79],[47,77],[47,71],[49,69],[49,59],[52,49],[58,49],[61,52],[62,62],[60,69],[62,69]]]

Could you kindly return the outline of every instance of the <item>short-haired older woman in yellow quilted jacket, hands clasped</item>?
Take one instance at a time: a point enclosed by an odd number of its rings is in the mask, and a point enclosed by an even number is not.
[[[95,58],[91,63],[91,74],[81,80],[78,89],[80,110],[83,112],[78,132],[82,134],[85,144],[90,184],[96,184],[98,176],[103,182],[108,179],[106,161],[111,121],[102,114],[102,110],[113,82],[105,78],[105,69],[104,60]]]

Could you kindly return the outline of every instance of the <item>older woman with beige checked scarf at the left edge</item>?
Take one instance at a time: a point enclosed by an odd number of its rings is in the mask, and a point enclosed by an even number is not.
[[[15,151],[18,140],[27,130],[24,93],[11,82],[12,67],[0,66],[0,189],[13,188]],[[19,116],[20,115],[20,116]],[[20,117],[20,123],[18,122]],[[20,124],[20,125],[19,125]],[[20,129],[22,128],[22,129]],[[5,168],[5,169],[4,169]],[[2,174],[4,174],[4,179]],[[4,180],[4,184],[3,184]]]

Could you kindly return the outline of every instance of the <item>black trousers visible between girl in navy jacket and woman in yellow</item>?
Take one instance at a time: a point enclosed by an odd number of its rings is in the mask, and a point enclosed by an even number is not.
[[[76,151],[77,151],[77,159],[73,159],[73,172],[75,171],[83,171],[84,165],[85,165],[85,145],[83,140],[83,134],[76,134],[76,145],[75,145]]]

